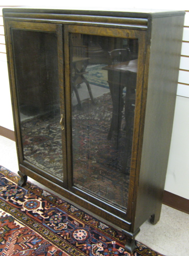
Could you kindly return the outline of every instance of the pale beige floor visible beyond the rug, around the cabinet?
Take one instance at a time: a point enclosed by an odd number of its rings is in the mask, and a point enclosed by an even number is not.
[[[18,171],[15,142],[3,136],[0,136],[0,165],[15,173]],[[28,180],[44,187],[31,179]],[[166,256],[187,256],[189,255],[189,215],[162,205],[160,221],[156,225],[146,221],[140,227],[136,240]]]

